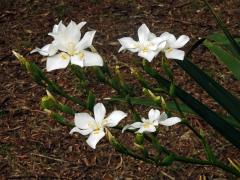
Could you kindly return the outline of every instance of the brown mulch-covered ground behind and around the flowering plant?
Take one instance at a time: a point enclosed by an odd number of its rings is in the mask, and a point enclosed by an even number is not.
[[[212,0],[217,12],[234,34],[240,34],[239,0]],[[96,29],[94,46],[114,67],[120,62],[131,63],[134,55],[118,54],[117,39],[136,36],[137,28],[146,23],[157,35],[169,31],[187,34],[191,43],[198,37],[217,31],[211,14],[198,0],[92,0],[56,1],[27,0],[1,1],[0,7],[0,178],[1,179],[199,179],[232,178],[213,167],[174,163],[162,168],[122,156],[104,139],[92,150],[79,135],[69,135],[69,129],[53,122],[40,108],[45,90],[36,85],[21,68],[11,51],[18,51],[42,68],[45,61],[39,55],[29,55],[36,46],[42,47],[51,38],[47,33],[53,24],[63,20],[87,21],[84,30]],[[190,44],[191,44],[190,43]],[[190,46],[190,45],[189,45]],[[226,67],[207,50],[200,47],[193,54],[193,62],[213,76],[232,93],[240,95],[240,84]],[[157,62],[155,60],[155,64]],[[195,84],[174,62],[171,62],[179,85],[213,110],[222,112],[219,105]],[[135,83],[129,71],[123,68],[126,79]],[[161,70],[160,70],[161,71]],[[76,93],[70,83],[71,73],[55,71],[48,76],[67,91]],[[93,78],[90,86],[96,89],[99,100],[113,93]],[[139,89],[139,92],[141,89]],[[112,108],[108,105],[108,108]],[[146,116],[148,109],[140,109]],[[196,128],[208,131],[208,140],[220,159],[240,160],[239,151],[214,132],[204,121],[190,117]],[[176,125],[164,129],[161,141],[170,149],[184,155],[204,158],[201,145],[186,128]],[[129,135],[115,132],[124,139]]]

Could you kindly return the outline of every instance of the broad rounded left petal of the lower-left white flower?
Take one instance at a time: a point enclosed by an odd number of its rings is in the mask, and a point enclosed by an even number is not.
[[[94,129],[95,120],[88,113],[76,113],[74,117],[75,126],[79,129]]]

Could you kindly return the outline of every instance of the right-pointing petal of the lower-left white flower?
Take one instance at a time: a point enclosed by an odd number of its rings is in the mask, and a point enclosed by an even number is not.
[[[127,116],[126,113],[122,111],[113,111],[107,118],[106,125],[108,127],[114,127],[118,125],[118,123]]]

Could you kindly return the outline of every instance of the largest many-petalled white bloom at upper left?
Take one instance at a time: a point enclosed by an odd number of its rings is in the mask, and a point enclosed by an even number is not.
[[[85,49],[92,46],[92,41],[96,31],[88,31],[81,39],[81,28],[86,22],[76,24],[71,21],[66,27],[62,22],[54,25],[50,36],[54,38],[51,44],[45,45],[43,48],[34,49],[33,52],[39,52],[47,57],[47,71],[55,69],[63,69],[72,64],[84,66],[102,66],[102,57]],[[60,53],[57,53],[60,51]]]

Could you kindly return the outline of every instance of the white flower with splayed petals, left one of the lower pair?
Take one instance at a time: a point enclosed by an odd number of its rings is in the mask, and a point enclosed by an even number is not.
[[[105,135],[105,127],[114,127],[127,116],[122,111],[113,111],[108,117],[104,118],[106,109],[102,103],[98,103],[94,106],[94,118],[88,113],[77,113],[75,114],[75,126],[70,134],[79,132],[82,135],[89,135],[87,144],[95,149],[96,144]]]

